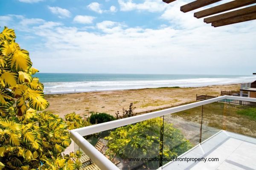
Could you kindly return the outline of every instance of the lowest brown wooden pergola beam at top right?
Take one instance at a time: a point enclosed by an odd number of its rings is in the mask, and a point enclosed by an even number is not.
[[[212,26],[214,27],[227,26],[230,24],[241,23],[241,22],[250,21],[250,20],[256,20],[256,12],[251,14],[241,15],[239,17],[233,17],[233,18],[215,21],[212,23]]]

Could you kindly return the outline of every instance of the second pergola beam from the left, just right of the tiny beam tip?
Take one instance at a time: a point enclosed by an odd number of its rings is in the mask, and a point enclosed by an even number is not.
[[[186,5],[180,6],[180,11],[189,12],[194,9],[201,8],[203,6],[207,6],[212,3],[216,3],[218,1],[221,1],[221,0],[195,0],[192,3],[188,3]]]

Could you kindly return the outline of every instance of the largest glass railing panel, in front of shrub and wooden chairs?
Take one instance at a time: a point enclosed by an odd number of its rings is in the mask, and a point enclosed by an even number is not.
[[[154,170],[159,168],[161,127],[158,117],[84,138],[121,170]]]

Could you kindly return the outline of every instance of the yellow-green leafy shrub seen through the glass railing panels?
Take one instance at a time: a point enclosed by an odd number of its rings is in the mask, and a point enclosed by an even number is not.
[[[160,129],[163,126],[161,118],[148,119],[135,125],[118,127],[105,137],[108,140],[108,153],[116,153],[122,159],[128,158],[158,158],[162,155]],[[164,123],[163,157],[172,158],[185,153],[192,148],[191,143],[180,130],[170,123]],[[163,162],[165,164],[166,162]],[[159,162],[129,162],[128,166],[137,167],[144,164],[149,169],[157,169]]]

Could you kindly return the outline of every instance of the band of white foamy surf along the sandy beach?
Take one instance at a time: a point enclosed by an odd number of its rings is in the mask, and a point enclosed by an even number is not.
[[[207,85],[224,85],[233,83],[253,82],[255,79],[256,76],[236,78],[196,78],[147,81],[46,82],[44,83],[44,92],[46,94],[58,94],[173,86],[201,87]]]

